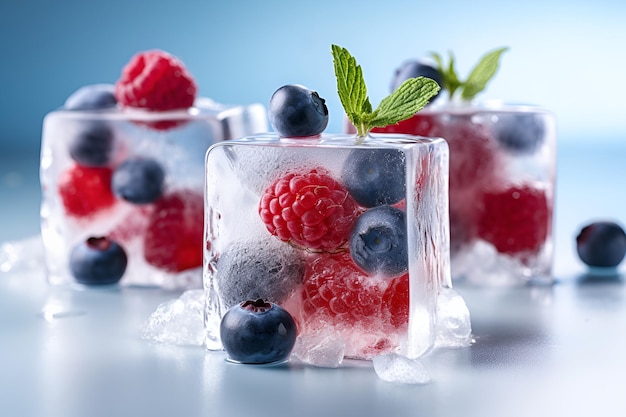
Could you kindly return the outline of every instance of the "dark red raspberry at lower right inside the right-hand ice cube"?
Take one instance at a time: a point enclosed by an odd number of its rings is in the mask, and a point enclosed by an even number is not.
[[[537,252],[548,236],[551,212],[543,190],[513,186],[486,192],[478,235],[509,255]]]

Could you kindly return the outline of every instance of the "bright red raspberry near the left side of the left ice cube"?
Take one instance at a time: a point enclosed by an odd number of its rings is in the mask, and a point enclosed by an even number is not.
[[[72,165],[59,177],[59,195],[70,216],[88,217],[115,204],[113,171],[107,167]]]

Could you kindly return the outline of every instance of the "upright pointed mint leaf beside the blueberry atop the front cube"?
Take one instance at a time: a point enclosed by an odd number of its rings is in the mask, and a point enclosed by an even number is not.
[[[363,123],[372,112],[372,104],[367,97],[367,89],[361,66],[347,49],[332,45],[333,64],[337,78],[337,92],[346,116],[361,135]]]

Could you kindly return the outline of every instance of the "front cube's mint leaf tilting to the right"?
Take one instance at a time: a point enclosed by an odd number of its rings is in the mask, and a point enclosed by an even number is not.
[[[385,127],[408,119],[426,107],[440,89],[430,78],[409,78],[380,102],[368,120],[369,125]]]

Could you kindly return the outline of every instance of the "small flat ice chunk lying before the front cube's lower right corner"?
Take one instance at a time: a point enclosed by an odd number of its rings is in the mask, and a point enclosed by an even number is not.
[[[411,359],[398,353],[387,353],[374,357],[372,363],[376,375],[387,382],[401,384],[430,382],[428,371],[419,359]]]

